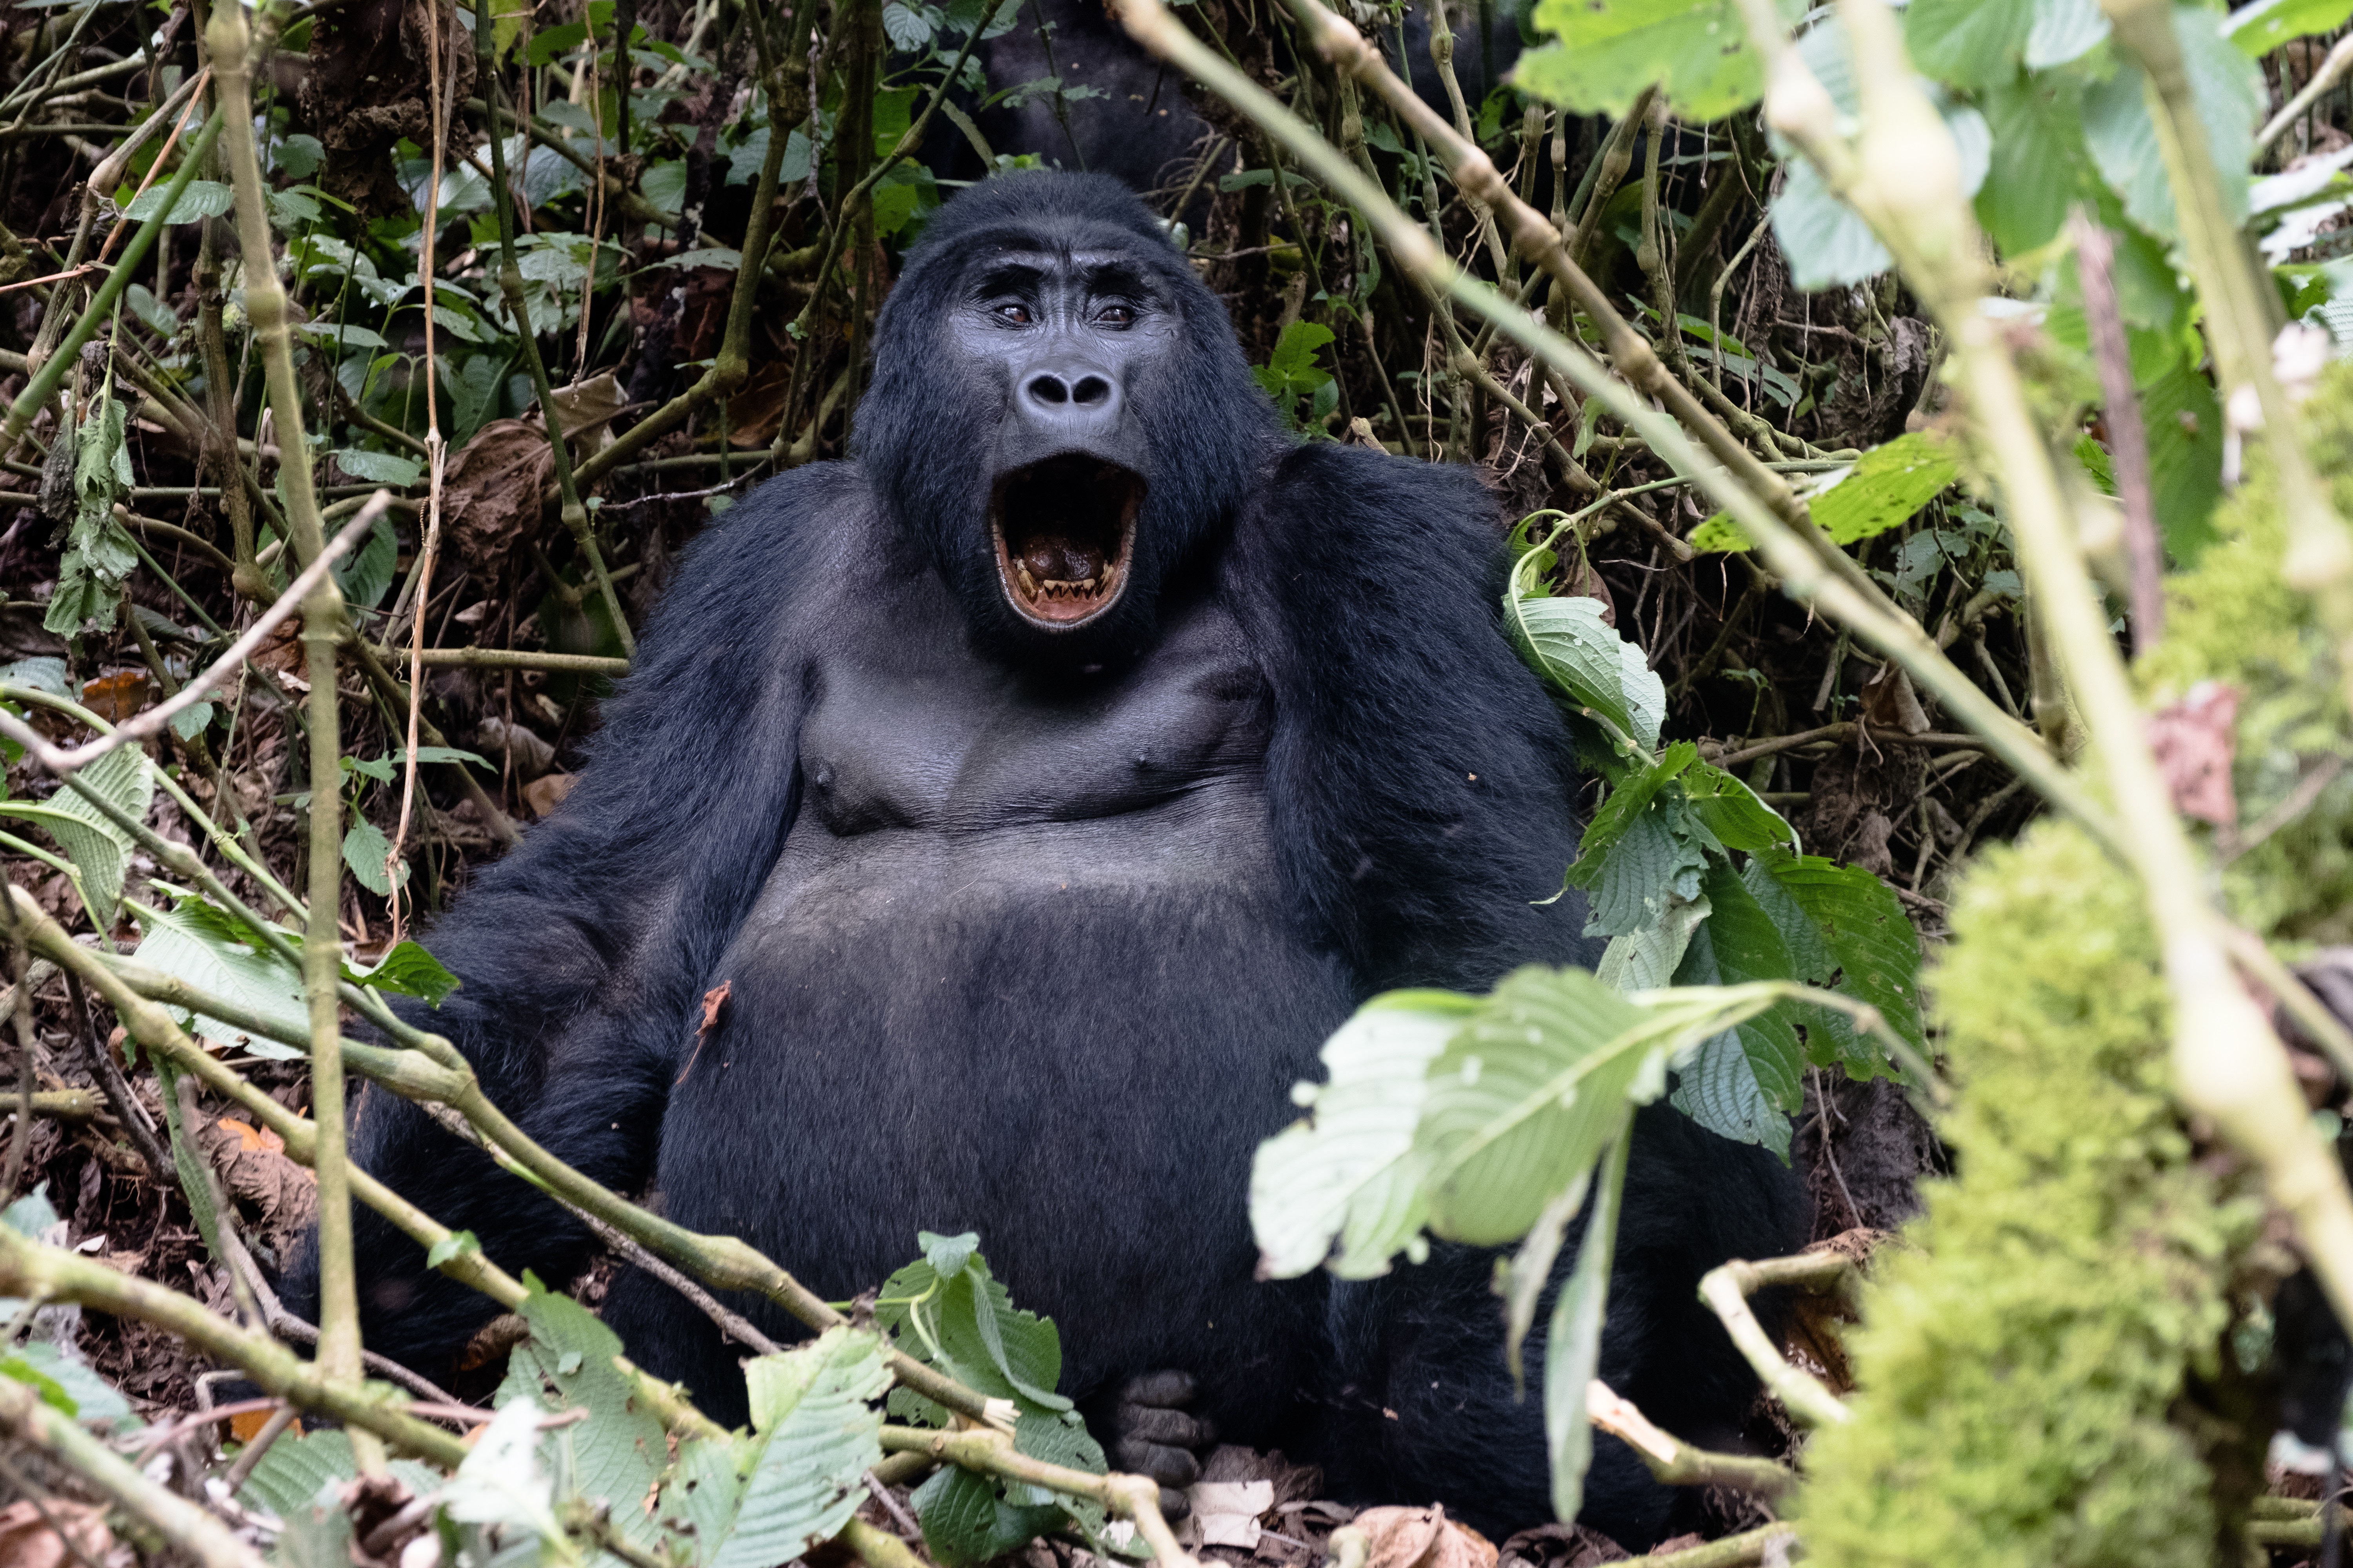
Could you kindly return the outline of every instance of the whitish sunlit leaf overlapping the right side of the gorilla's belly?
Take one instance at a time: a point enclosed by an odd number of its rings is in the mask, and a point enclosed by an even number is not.
[[[1428,1067],[1473,1006],[1454,992],[1386,992],[1325,1041],[1327,1081],[1292,1088],[1308,1119],[1261,1143],[1249,1166],[1259,1274],[1294,1279],[1325,1265],[1372,1279],[1421,1234],[1414,1124]]]

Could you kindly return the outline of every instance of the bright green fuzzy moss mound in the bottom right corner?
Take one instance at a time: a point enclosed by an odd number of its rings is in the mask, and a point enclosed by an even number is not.
[[[2167,1422],[2212,1375],[2261,1206],[2193,1164],[2139,889],[2078,830],[1979,858],[1934,994],[1958,1178],[1882,1248],[1854,1422],[1814,1434],[1809,1563],[2214,1563],[2212,1476]]]

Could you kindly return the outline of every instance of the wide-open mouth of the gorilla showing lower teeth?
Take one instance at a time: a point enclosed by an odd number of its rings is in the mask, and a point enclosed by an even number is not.
[[[988,527],[1005,597],[1033,625],[1068,630],[1120,599],[1144,475],[1068,454],[998,480]]]

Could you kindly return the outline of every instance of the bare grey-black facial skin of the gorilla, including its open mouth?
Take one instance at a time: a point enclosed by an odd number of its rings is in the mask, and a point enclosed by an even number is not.
[[[1005,604],[1042,635],[1113,618],[1134,578],[1153,458],[1129,388],[1167,364],[1172,327],[1169,301],[1113,252],[995,256],[955,315],[960,355],[1007,390],[986,550]]]

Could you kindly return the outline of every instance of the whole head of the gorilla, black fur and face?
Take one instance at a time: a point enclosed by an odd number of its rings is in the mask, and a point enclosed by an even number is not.
[[[1162,583],[1278,440],[1226,308],[1144,202],[1014,174],[908,256],[856,456],[984,642],[1104,661],[1151,639]]]

